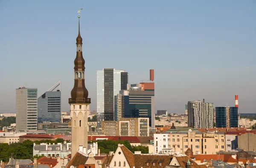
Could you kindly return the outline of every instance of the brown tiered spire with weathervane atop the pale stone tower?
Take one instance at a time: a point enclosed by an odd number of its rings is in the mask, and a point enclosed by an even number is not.
[[[88,98],[88,90],[84,84],[85,61],[82,52],[82,37],[80,35],[80,10],[78,11],[78,14],[78,36],[76,37],[76,59],[74,61],[75,82],[71,91],[69,103],[90,103],[90,98]]]

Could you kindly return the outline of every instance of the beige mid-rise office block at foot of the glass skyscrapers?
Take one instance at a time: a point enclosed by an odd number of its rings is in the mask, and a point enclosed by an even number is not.
[[[102,121],[105,136],[149,136],[148,118],[120,118],[119,121]]]

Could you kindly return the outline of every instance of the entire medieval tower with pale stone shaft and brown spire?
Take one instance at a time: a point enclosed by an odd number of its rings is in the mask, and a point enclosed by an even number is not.
[[[71,91],[70,116],[72,124],[72,151],[71,159],[79,149],[79,146],[87,148],[87,115],[89,114],[90,98],[84,85],[84,58],[82,54],[82,38],[80,36],[80,11],[78,11],[78,36],[76,38],[76,59],[74,61],[74,87]]]

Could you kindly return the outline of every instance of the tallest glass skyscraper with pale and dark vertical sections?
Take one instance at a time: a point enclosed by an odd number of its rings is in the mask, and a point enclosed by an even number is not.
[[[104,120],[114,120],[114,96],[127,90],[128,73],[114,68],[97,71],[97,114]]]

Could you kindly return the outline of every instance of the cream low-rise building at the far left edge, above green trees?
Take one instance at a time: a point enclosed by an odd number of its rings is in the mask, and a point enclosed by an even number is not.
[[[26,133],[0,132],[0,143],[18,143],[22,135],[26,135]]]

